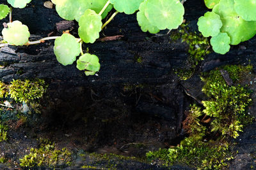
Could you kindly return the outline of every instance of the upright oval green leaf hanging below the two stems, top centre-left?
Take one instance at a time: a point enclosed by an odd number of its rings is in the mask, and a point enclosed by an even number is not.
[[[78,34],[85,43],[94,43],[99,38],[101,27],[101,17],[95,11],[88,9],[79,20]]]

